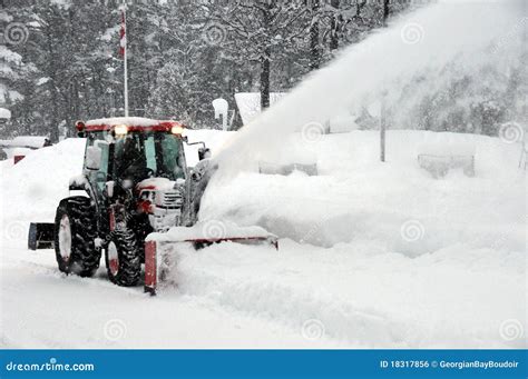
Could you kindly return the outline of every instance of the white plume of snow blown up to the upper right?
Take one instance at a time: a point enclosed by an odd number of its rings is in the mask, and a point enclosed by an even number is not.
[[[280,152],[284,136],[323,124],[332,116],[384,93],[398,98],[417,72],[428,72],[430,86],[457,61],[475,72],[482,60],[519,59],[527,26],[522,0],[442,0],[393,21],[364,41],[344,49],[325,68],[313,72],[287,96],[245,126],[217,156],[221,172],[253,168]],[[428,86],[428,83],[423,84]]]

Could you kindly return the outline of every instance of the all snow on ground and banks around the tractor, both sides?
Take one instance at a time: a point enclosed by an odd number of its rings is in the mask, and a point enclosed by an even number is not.
[[[197,131],[217,150],[229,133]],[[141,288],[58,272],[26,249],[29,221],[51,220],[82,141],[1,162],[1,305],[6,347],[526,347],[526,172],[498,138],[372,131],[285,139],[320,176],[221,174],[201,218],[258,225],[280,250],[222,243],[182,249],[176,285]],[[286,143],[287,141],[287,143]],[[292,142],[293,141],[293,142]],[[296,142],[295,142],[296,141]],[[476,176],[433,179],[417,149],[476,148]],[[215,149],[216,148],[216,149]],[[236,158],[236,157],[235,157]],[[104,265],[102,265],[104,266]]]

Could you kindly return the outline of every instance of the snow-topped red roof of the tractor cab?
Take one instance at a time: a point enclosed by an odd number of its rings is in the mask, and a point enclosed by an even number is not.
[[[78,121],[78,123],[81,121]],[[86,131],[113,130],[117,126],[126,126],[129,131],[170,131],[173,127],[184,128],[184,124],[173,120],[153,120],[143,117],[115,117],[87,121]]]

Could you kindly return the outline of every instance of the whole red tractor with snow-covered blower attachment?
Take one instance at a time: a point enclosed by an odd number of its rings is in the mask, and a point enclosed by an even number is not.
[[[221,222],[225,233],[218,236],[196,223],[215,166],[204,142],[187,140],[182,123],[133,117],[79,121],[76,128],[86,138],[82,174],[70,180],[55,223],[32,223],[28,240],[31,249],[53,243],[60,271],[90,277],[104,253],[114,283],[136,286],[145,263],[146,289],[155,292],[159,257],[178,243],[277,246],[262,228]],[[184,143],[202,144],[193,168]]]

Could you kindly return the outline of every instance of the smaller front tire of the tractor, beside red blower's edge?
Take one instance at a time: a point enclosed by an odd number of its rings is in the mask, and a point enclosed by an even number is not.
[[[137,237],[130,229],[110,232],[110,241],[105,249],[108,278],[123,287],[137,286],[141,276],[141,252]]]

